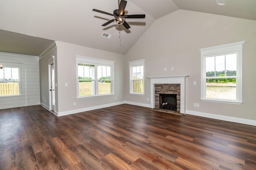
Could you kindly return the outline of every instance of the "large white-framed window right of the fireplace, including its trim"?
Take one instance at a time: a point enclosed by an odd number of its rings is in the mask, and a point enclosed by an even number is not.
[[[242,44],[231,43],[201,51],[201,100],[242,103]]]

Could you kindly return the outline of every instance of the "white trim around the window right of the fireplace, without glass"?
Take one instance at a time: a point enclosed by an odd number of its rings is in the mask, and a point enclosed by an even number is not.
[[[199,49],[201,52],[201,101],[204,102],[218,102],[228,104],[242,104],[242,45],[245,41],[230,43],[225,45],[218,45]],[[226,53],[237,52],[237,79],[236,79],[236,100],[221,100],[206,98],[206,73],[205,73],[205,58],[214,55],[221,55]]]

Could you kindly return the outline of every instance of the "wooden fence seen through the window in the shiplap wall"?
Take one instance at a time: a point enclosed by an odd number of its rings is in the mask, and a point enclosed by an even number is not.
[[[19,83],[8,82],[0,83],[0,96],[18,95],[19,94]]]

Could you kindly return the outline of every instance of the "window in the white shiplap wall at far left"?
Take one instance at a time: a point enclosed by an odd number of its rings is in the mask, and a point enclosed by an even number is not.
[[[0,96],[20,95],[20,67],[7,66],[0,69]]]

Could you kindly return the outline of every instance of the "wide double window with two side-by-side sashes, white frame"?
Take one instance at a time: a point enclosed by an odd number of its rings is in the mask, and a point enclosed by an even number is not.
[[[114,61],[81,56],[76,61],[78,98],[114,94]]]

